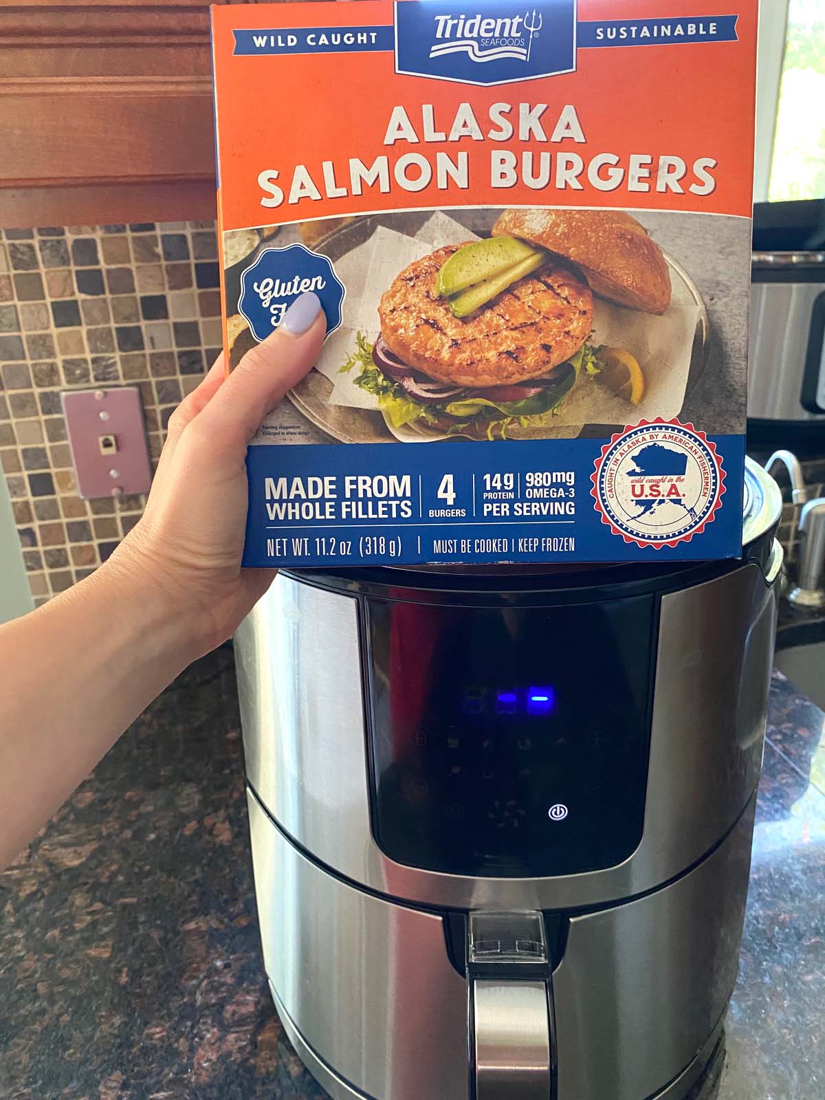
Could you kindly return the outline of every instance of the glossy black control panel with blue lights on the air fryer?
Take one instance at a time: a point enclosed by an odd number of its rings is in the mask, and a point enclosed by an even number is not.
[[[542,877],[641,839],[656,601],[366,604],[375,838],[400,864]]]

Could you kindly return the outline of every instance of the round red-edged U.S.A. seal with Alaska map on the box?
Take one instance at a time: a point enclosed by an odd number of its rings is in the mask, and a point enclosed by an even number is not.
[[[711,522],[725,492],[716,447],[679,420],[642,420],[615,435],[591,480],[602,522],[641,547],[689,542]]]

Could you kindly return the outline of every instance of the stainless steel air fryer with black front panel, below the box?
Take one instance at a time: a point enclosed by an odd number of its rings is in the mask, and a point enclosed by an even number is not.
[[[681,1100],[737,971],[781,551],[282,573],[237,638],[266,971],[336,1100]]]

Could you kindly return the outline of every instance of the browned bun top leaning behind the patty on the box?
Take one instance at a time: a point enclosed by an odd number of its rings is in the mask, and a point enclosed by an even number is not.
[[[663,314],[670,272],[662,250],[622,210],[505,210],[494,237],[518,237],[572,261],[600,298]]]

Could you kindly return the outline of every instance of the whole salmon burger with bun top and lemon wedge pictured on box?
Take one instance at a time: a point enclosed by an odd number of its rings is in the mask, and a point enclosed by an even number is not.
[[[638,404],[644,372],[594,341],[594,296],[666,312],[670,273],[630,215],[505,210],[492,235],[446,244],[398,273],[378,305],[381,331],[342,367],[394,428],[433,438],[552,433],[575,386],[594,380]]]

